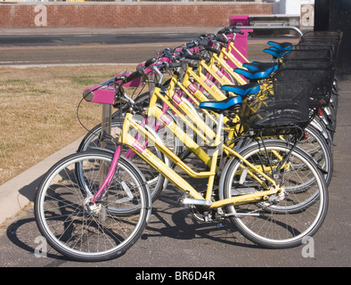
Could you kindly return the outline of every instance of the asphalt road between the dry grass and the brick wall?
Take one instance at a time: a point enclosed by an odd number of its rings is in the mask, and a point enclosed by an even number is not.
[[[183,45],[219,28],[0,29],[0,66],[139,63],[157,50]],[[262,53],[265,47],[265,38],[249,39],[255,60],[269,60]]]

